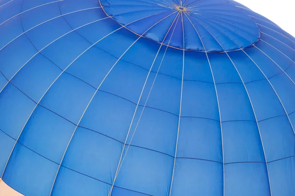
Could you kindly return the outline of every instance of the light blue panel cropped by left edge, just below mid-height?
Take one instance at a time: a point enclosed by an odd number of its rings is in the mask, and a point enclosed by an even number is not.
[[[17,88],[7,84],[0,94],[0,129],[17,139],[35,105]]]

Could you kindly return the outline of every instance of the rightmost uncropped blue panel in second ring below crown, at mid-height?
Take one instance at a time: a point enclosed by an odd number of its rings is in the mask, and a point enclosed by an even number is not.
[[[286,112],[267,80],[246,84],[257,121],[286,115]]]

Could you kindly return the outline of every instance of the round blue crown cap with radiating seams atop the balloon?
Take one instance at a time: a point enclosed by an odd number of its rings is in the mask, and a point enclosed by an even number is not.
[[[222,52],[251,47],[256,23],[232,0],[101,0],[120,25],[177,49]],[[172,33],[173,32],[173,33]]]

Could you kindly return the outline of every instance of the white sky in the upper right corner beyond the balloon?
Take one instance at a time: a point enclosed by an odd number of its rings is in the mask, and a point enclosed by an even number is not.
[[[295,37],[295,0],[236,0]]]

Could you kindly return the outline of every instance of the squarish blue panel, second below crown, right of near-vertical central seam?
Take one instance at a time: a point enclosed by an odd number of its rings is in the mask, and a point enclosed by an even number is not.
[[[214,84],[183,81],[181,117],[199,117],[219,121]]]

